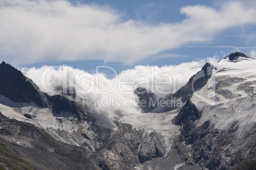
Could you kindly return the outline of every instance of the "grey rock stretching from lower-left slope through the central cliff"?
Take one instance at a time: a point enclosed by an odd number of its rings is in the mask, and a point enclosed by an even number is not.
[[[132,129],[131,124],[116,124],[115,131],[94,124],[78,130],[80,139],[89,143],[77,147],[0,113],[0,140],[6,149],[29,162],[27,166],[31,169],[133,169],[139,162],[164,155],[160,134],[145,135]]]

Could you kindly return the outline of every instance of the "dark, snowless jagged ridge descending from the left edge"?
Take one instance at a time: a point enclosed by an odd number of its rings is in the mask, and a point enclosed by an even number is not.
[[[94,117],[79,108],[75,101],[64,96],[49,96],[41,92],[31,79],[5,62],[0,65],[0,79],[0,95],[15,103],[34,103],[38,107],[51,108],[54,114],[69,112],[76,115],[79,120],[94,120]]]

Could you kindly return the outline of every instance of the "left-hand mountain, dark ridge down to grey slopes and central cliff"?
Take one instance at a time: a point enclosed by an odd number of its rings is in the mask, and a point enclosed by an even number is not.
[[[0,141],[13,155],[3,157],[6,169],[133,169],[164,155],[159,133],[118,121],[103,128],[69,96],[42,93],[4,62],[0,70]]]

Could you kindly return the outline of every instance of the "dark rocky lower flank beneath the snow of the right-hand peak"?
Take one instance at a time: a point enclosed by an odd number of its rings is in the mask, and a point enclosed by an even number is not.
[[[190,119],[188,117],[188,119]],[[193,118],[194,119],[194,118]],[[189,122],[189,123],[185,123]],[[207,169],[232,169],[244,160],[236,169],[252,164],[256,141],[255,127],[250,133],[237,136],[238,122],[232,122],[227,129],[215,129],[209,121],[197,127],[192,121],[183,122],[181,135],[177,137],[174,148],[178,150],[186,164],[199,164]],[[242,140],[246,139],[246,140]],[[185,141],[185,144],[183,144]],[[187,147],[190,145],[191,147]],[[191,155],[192,153],[192,155]]]

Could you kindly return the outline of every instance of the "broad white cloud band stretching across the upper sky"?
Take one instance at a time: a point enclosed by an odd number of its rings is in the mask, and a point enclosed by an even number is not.
[[[185,6],[179,23],[150,25],[123,20],[122,13],[68,1],[2,0],[0,55],[15,64],[105,60],[134,63],[188,42],[210,41],[213,34],[256,23],[256,3],[222,4],[220,9]]]

